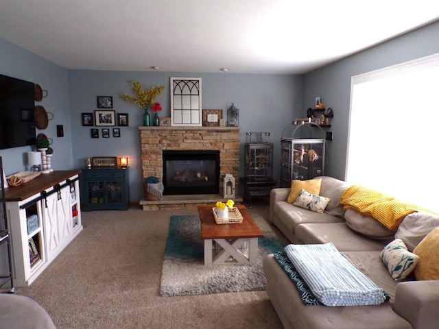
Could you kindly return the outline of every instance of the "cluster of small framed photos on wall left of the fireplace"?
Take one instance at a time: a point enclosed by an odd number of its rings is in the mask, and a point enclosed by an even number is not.
[[[81,113],[82,126],[93,127],[90,129],[91,138],[120,137],[120,127],[128,127],[128,113],[111,110],[112,96],[97,96],[97,108],[99,110],[95,112]]]

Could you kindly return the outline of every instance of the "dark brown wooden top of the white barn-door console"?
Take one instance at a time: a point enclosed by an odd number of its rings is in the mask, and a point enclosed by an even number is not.
[[[60,170],[51,173],[41,173],[34,180],[25,182],[20,186],[9,186],[5,188],[5,201],[16,202],[23,201],[32,195],[45,191],[47,188],[67,180],[74,175],[79,175],[81,170]]]

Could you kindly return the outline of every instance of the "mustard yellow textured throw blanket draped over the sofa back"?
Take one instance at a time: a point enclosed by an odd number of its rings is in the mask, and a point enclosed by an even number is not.
[[[376,219],[392,232],[395,232],[404,217],[412,212],[429,212],[429,210],[401,202],[394,197],[389,197],[362,185],[346,188],[340,199],[340,204],[344,205],[344,210],[352,209],[363,216]]]

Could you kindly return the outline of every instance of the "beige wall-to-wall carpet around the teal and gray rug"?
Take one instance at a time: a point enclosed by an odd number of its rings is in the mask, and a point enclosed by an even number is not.
[[[266,207],[259,207],[265,218]],[[196,210],[83,212],[84,230],[30,287],[58,329],[282,328],[265,291],[161,297],[171,215]]]

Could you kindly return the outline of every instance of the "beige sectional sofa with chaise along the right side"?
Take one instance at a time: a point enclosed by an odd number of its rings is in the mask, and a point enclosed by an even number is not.
[[[391,299],[377,306],[305,306],[292,279],[271,254],[264,259],[263,270],[268,295],[283,326],[296,329],[439,328],[439,280],[416,280],[411,273],[404,280],[396,281],[380,257],[383,248],[396,238],[403,240],[412,252],[439,226],[439,217],[425,215],[424,218],[422,213],[415,213],[405,217],[396,232],[391,232],[375,219],[344,210],[340,197],[348,188],[345,182],[330,177],[316,179],[322,179],[319,195],[331,199],[323,213],[288,203],[290,189],[274,188],[270,220],[293,244],[333,243]]]

